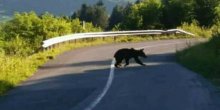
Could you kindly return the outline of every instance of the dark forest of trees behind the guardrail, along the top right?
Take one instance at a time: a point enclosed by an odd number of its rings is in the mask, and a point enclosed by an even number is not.
[[[116,5],[108,17],[102,1],[83,4],[71,18],[92,22],[103,29],[168,29],[182,23],[198,22],[211,27],[219,18],[219,0],[138,0],[134,4]],[[99,22],[102,21],[102,22]]]

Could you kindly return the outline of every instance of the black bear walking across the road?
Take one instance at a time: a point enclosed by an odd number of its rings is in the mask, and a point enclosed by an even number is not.
[[[140,65],[143,65],[145,66],[144,63],[142,63],[138,57],[143,57],[143,58],[146,58],[147,55],[144,53],[144,49],[141,49],[141,50],[135,50],[134,48],[131,48],[131,49],[128,49],[128,48],[123,48],[123,49],[120,49],[118,50],[115,55],[115,60],[116,60],[116,63],[115,63],[115,67],[119,67],[121,66],[121,62],[123,60],[125,60],[125,66],[129,65],[129,60],[131,58],[134,58],[134,60],[136,61],[136,63],[140,64]]]

